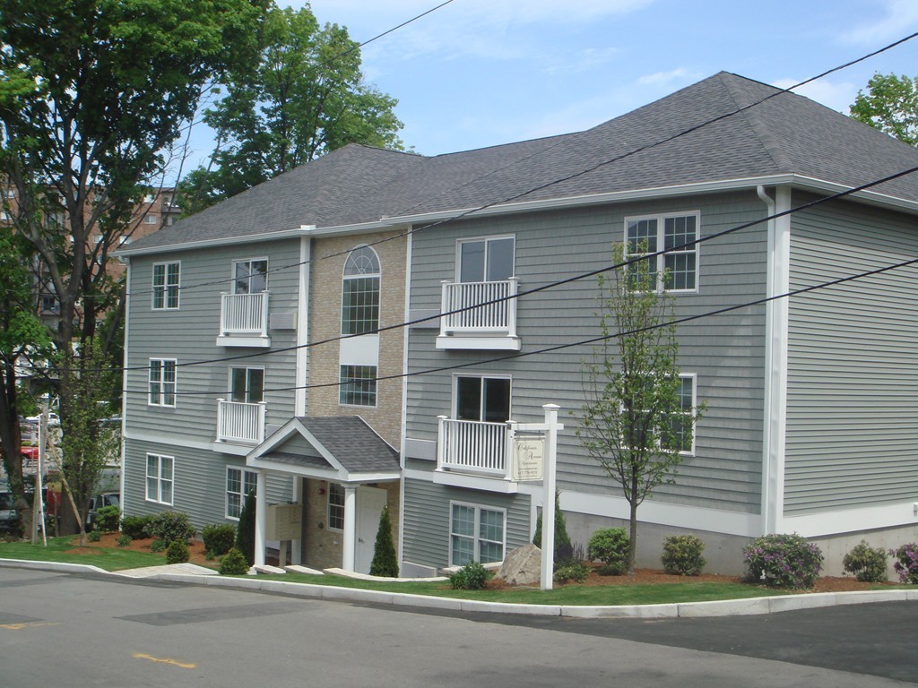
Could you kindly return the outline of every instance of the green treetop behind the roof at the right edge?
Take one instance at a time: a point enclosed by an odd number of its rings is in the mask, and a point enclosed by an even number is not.
[[[857,92],[851,117],[910,146],[918,146],[918,78],[874,74]]]

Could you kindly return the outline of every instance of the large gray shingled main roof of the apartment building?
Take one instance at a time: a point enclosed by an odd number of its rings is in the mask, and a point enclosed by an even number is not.
[[[432,158],[352,144],[164,228],[132,249],[448,213],[509,199],[552,201],[783,173],[856,186],[918,165],[918,150],[800,95],[778,93],[774,86],[720,72],[576,134]],[[771,94],[778,95],[608,162]],[[918,175],[874,191],[918,202]]]

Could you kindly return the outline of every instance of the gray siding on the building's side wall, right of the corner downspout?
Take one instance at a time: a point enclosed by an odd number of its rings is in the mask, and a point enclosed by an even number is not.
[[[792,219],[792,289],[916,257],[912,217],[836,202]],[[916,284],[911,265],[791,298],[785,514],[918,495]]]

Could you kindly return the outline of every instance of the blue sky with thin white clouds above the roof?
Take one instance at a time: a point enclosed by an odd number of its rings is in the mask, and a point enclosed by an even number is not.
[[[310,6],[364,42],[441,2]],[[786,88],[915,31],[916,0],[453,0],[362,54],[406,147],[438,155],[580,131],[721,71]],[[847,114],[876,72],[918,76],[918,38],[798,93]],[[192,146],[207,158],[206,128]]]

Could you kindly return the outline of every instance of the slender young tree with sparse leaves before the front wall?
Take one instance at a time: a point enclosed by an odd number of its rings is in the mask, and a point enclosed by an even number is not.
[[[633,247],[635,254],[646,252]],[[614,250],[616,263],[624,249]],[[683,404],[673,300],[648,261],[599,276],[602,344],[584,362],[586,403],[576,434],[588,455],[621,485],[630,506],[628,572],[634,571],[637,511],[655,487],[672,483],[702,408]]]

